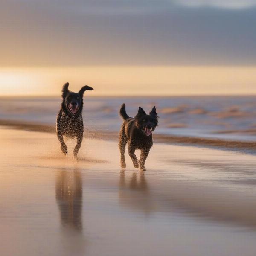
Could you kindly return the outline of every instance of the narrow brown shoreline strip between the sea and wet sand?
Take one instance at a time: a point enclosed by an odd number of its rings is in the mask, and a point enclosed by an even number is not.
[[[14,121],[8,119],[0,119],[0,126],[9,126],[12,129],[23,131],[36,131],[54,134],[55,125],[46,125],[36,122]],[[114,131],[96,131],[84,129],[85,137],[98,140],[118,140],[118,132]],[[178,145],[194,145],[207,148],[218,148],[232,151],[250,151],[256,153],[256,142],[238,141],[238,140],[221,140],[189,136],[174,136],[166,134],[153,134],[155,143],[178,144]],[[248,152],[245,152],[248,153]]]

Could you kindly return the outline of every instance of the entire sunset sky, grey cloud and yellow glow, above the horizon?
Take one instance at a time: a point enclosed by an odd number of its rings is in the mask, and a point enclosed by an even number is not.
[[[256,93],[256,0],[2,0],[0,24],[2,95]]]

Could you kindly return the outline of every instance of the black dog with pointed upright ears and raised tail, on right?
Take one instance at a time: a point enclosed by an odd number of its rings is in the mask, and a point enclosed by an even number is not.
[[[124,119],[121,130],[119,132],[119,149],[121,153],[121,167],[125,168],[125,145],[128,143],[128,152],[135,168],[140,167],[141,171],[146,171],[145,160],[148,157],[150,148],[153,145],[152,131],[158,125],[158,116],[156,107],[154,106],[147,115],[145,111],[139,107],[139,111],[134,118],[127,115],[125,104],[120,108],[120,115]],[[140,160],[134,154],[136,149],[140,149]]]

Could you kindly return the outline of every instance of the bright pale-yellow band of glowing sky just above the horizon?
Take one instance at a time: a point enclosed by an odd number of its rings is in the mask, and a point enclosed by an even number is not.
[[[234,95],[256,93],[256,67],[90,66],[4,68],[2,96],[60,94],[84,84],[92,96]]]

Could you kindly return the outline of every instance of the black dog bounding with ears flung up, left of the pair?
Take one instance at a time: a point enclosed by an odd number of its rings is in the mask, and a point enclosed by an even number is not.
[[[67,145],[64,143],[63,135],[74,138],[77,143],[74,148],[74,156],[81,147],[84,133],[84,123],[82,119],[83,95],[86,90],[93,90],[92,87],[85,85],[78,93],[73,93],[68,90],[69,83],[64,84],[62,88],[62,103],[61,110],[57,117],[57,136],[61,142],[61,151],[67,154]]]

